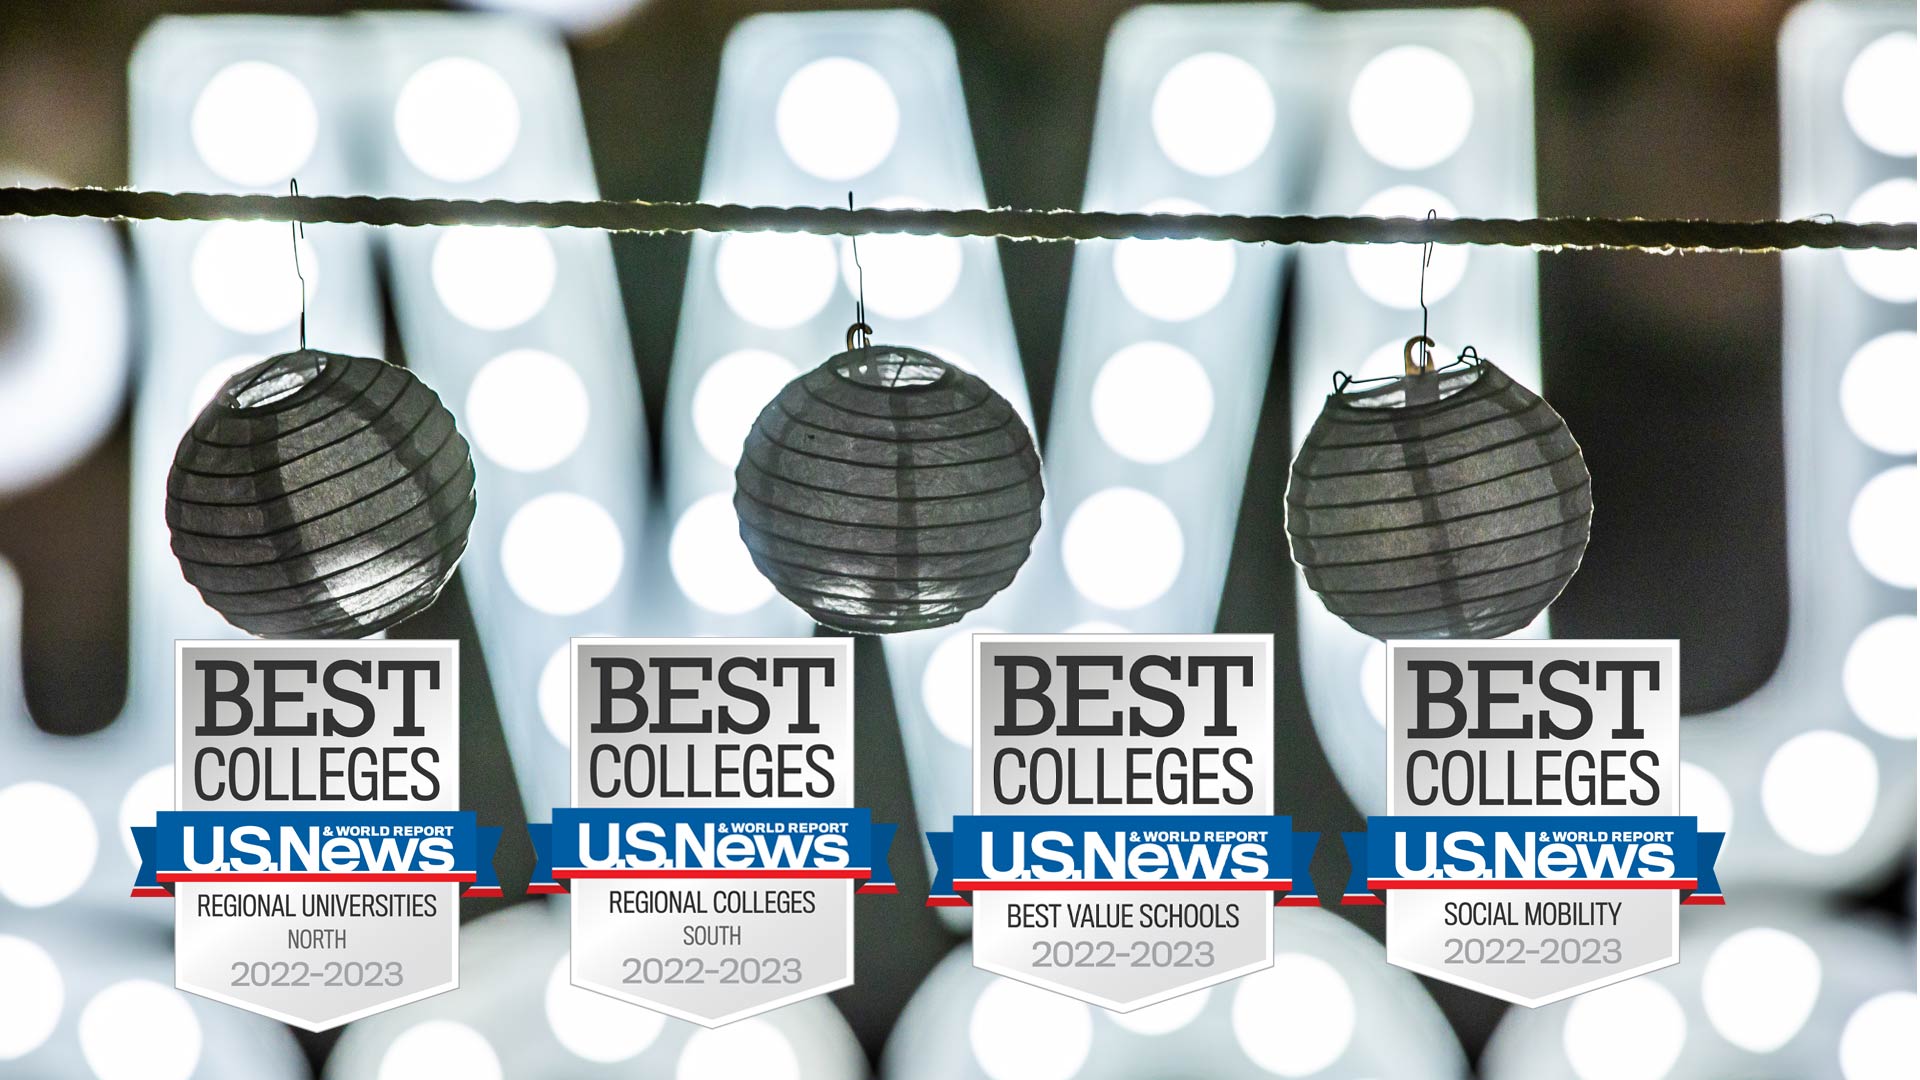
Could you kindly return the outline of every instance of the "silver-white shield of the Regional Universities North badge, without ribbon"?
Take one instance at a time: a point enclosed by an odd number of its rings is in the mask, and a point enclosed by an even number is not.
[[[374,728],[359,738],[326,736],[198,736],[190,726],[198,723],[204,707],[204,682],[194,671],[196,659],[232,659],[250,663],[253,659],[313,659],[321,671],[336,659],[378,661],[428,661],[442,667],[438,690],[428,688],[426,675],[415,675],[415,721],[426,728],[424,736],[399,738],[394,726],[401,721],[401,682],[396,675],[386,690],[374,684],[351,682],[349,688],[372,700]],[[175,809],[257,809],[257,811],[457,811],[461,809],[461,724],[459,724],[459,642],[175,642]],[[221,686],[227,682],[223,680]],[[290,688],[282,676],[278,690]],[[261,709],[261,678],[253,673],[248,680],[248,700],[255,711]],[[344,709],[340,701],[324,698],[321,686],[307,686],[305,701],[282,701],[275,715],[282,723],[300,723],[309,711],[336,709],[342,719],[355,723],[359,717]],[[382,749],[388,746],[430,746],[440,751],[434,774],[440,778],[440,794],[432,799],[407,799],[394,803],[357,801],[240,801],[232,798],[200,799],[194,794],[194,751],[204,746],[219,746],[227,751],[238,746],[257,748],[276,759],[290,759],[300,748],[300,788],[315,792],[321,784],[323,746],[365,746]],[[225,773],[221,773],[225,778]],[[276,778],[284,788],[284,773]],[[411,784],[407,784],[411,790]],[[250,1013],[263,1013],[276,1020],[323,1032],[361,1017],[382,1013],[409,1001],[445,994],[459,986],[459,932],[461,909],[459,894],[465,886],[455,882],[388,884],[388,882],[248,882],[248,884],[202,884],[179,882],[173,886],[173,978],[175,986],[190,994],[200,994],[227,1005],[236,1005]],[[280,892],[288,896],[292,919],[276,917],[200,917],[196,907],[202,894],[219,892]],[[392,892],[392,894],[432,894],[434,915],[426,919],[303,919],[300,903],[307,896],[346,894],[346,892]],[[290,928],[342,930],[346,949],[294,949],[288,944]],[[313,969],[309,982],[315,986],[232,986],[234,963],[294,965],[305,963]],[[401,986],[319,986],[326,980],[323,965],[328,963],[399,963]],[[271,972],[271,969],[269,969]]]

